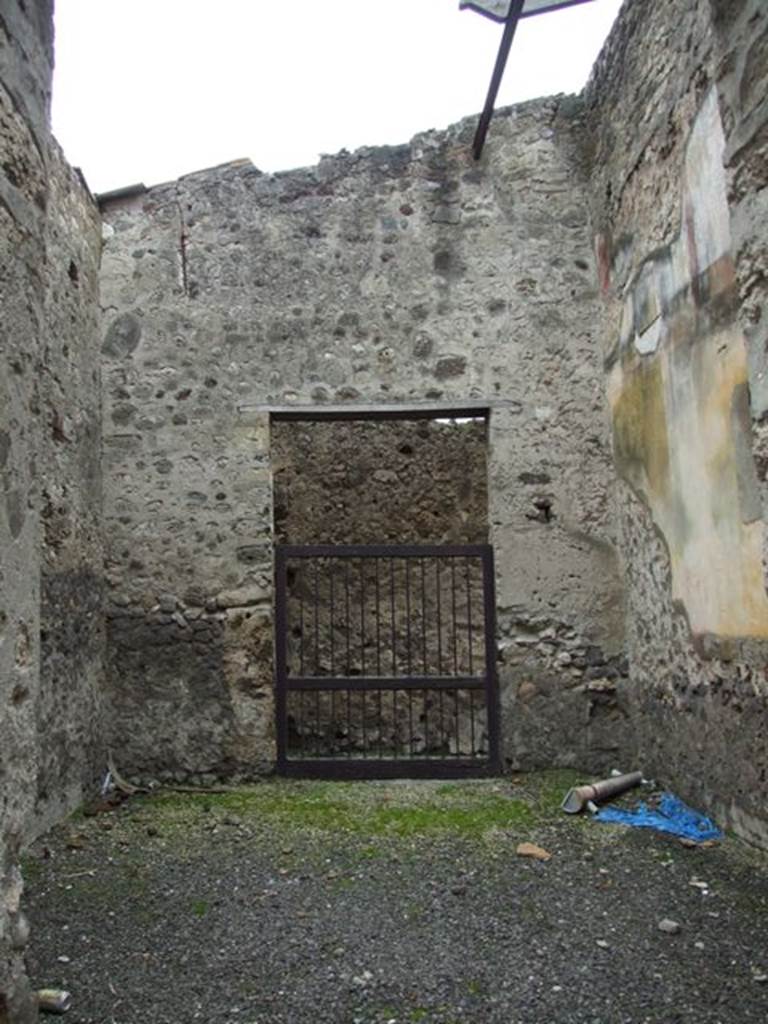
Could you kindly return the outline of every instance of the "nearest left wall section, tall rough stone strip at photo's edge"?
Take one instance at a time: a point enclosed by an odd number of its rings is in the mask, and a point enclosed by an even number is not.
[[[37,16],[39,13],[39,23]],[[0,1021],[36,1016],[24,974],[17,857],[34,802],[40,666],[36,457],[45,321],[46,146],[51,5],[3,7],[0,20]]]

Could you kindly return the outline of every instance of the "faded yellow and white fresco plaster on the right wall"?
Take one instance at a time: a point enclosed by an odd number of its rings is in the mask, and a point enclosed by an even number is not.
[[[724,144],[713,89],[686,151],[680,234],[628,288],[608,396],[618,472],[666,540],[674,597],[693,633],[764,637],[763,523]]]

